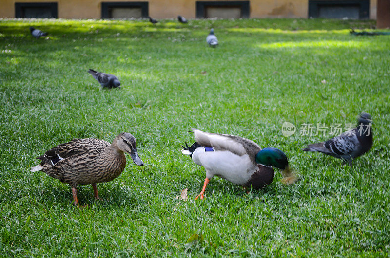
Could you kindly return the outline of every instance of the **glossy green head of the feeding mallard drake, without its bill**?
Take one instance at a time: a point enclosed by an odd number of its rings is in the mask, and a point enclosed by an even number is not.
[[[277,148],[264,148],[257,152],[256,163],[265,166],[274,166],[282,170],[289,166],[286,154]]]

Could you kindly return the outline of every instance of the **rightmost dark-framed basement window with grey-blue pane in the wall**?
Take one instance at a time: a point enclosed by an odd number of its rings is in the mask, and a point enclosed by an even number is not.
[[[309,0],[309,18],[368,19],[370,0]]]

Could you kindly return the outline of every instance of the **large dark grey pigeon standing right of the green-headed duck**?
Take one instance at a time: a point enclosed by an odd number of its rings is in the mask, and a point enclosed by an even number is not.
[[[319,151],[327,155],[342,159],[352,166],[355,159],[372,146],[371,115],[362,112],[359,116],[357,127],[326,142],[309,144],[304,151]]]

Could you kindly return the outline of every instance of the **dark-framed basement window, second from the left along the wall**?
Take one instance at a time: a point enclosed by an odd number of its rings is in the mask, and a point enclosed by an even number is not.
[[[102,2],[102,19],[147,18],[148,2]]]

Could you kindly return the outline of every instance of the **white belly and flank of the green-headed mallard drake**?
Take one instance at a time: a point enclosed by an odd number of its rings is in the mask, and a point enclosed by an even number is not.
[[[205,168],[207,178],[218,176],[239,185],[250,180],[250,172],[257,166],[247,154],[239,156],[230,151],[205,151],[204,147],[195,149],[192,159]]]

